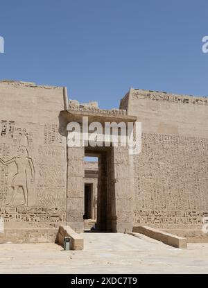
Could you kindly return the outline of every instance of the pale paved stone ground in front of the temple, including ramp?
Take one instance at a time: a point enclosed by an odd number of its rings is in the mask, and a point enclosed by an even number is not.
[[[208,273],[208,244],[187,250],[137,235],[85,233],[84,251],[0,244],[0,273]]]

